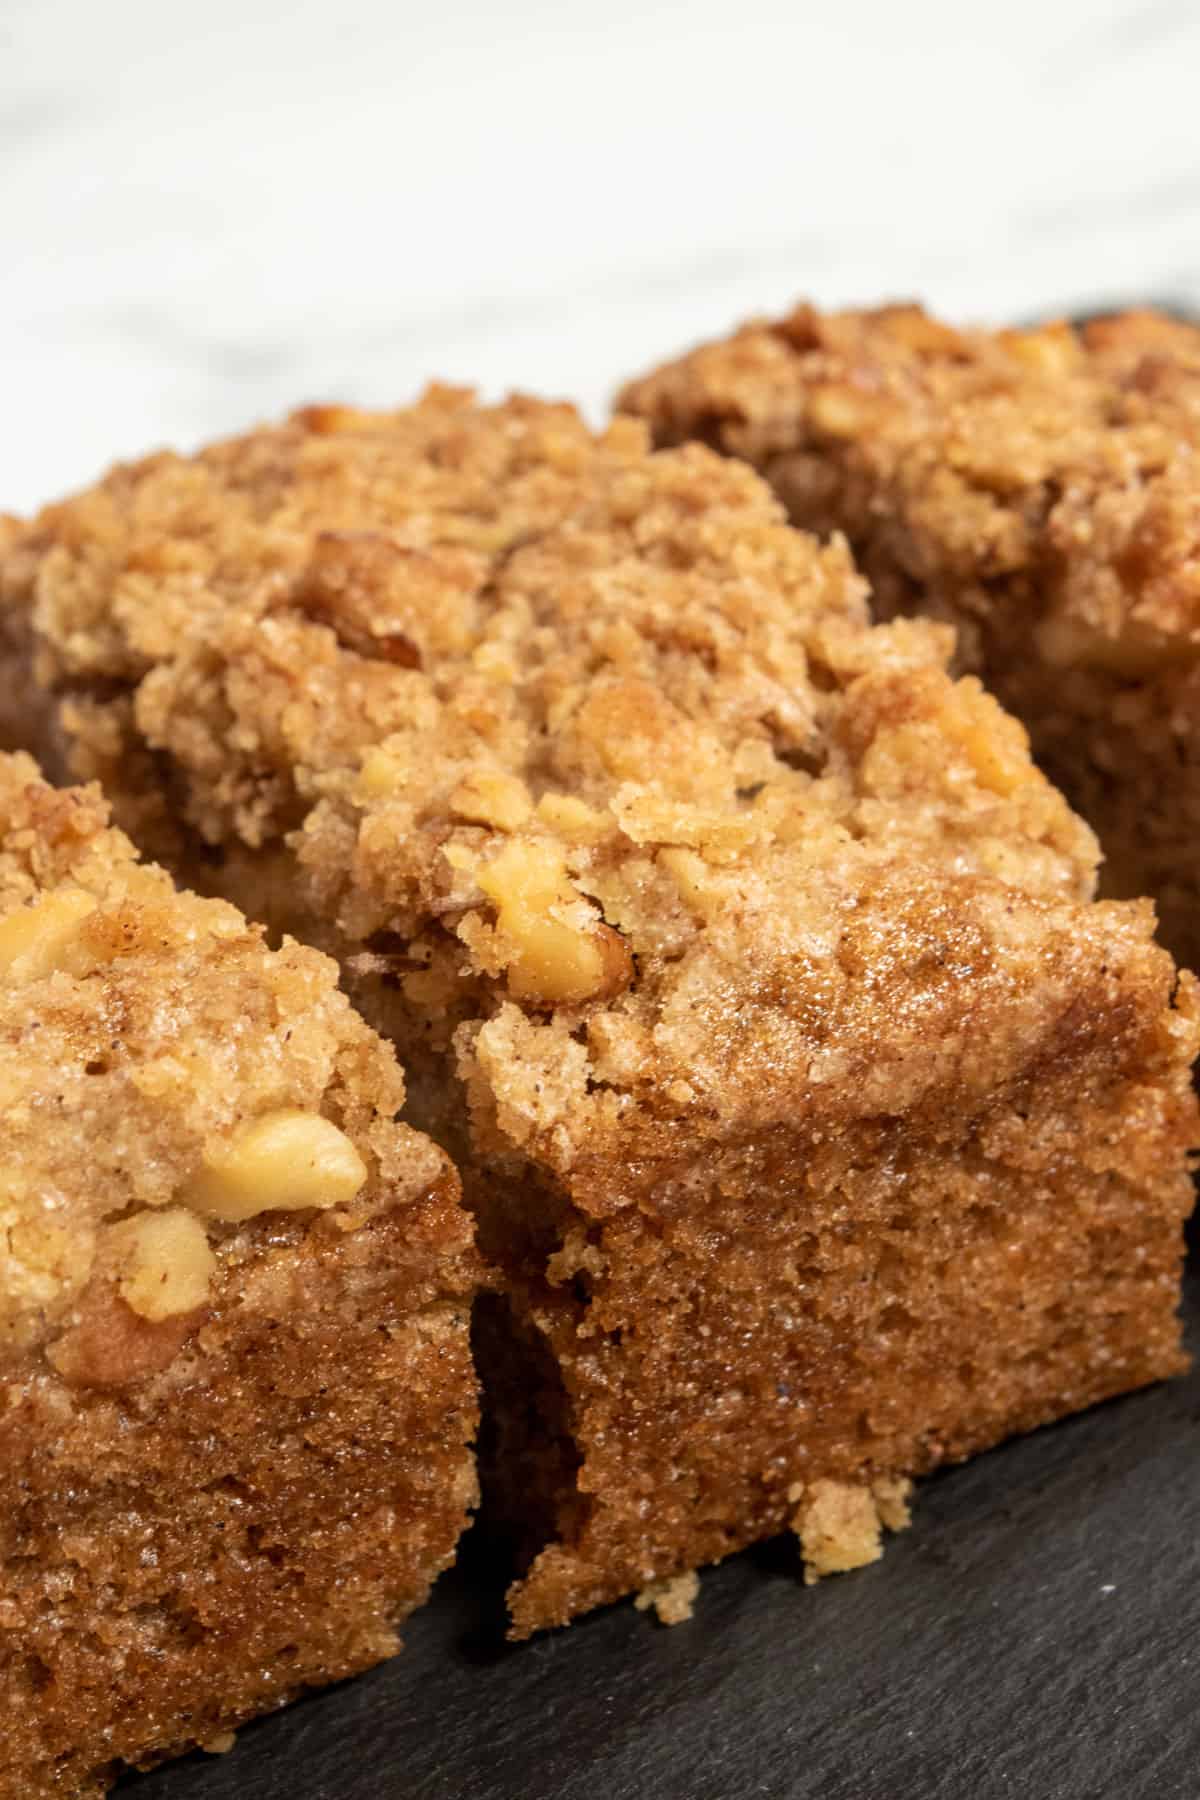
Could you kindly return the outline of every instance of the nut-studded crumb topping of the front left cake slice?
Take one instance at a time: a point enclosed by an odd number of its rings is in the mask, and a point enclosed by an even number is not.
[[[351,1231],[439,1186],[453,1201],[441,1152],[392,1123],[399,1069],[336,979],[176,893],[95,788],[0,758],[0,1372],[45,1343],[70,1379],[128,1373],[144,1325],[194,1323],[216,1251],[259,1213]],[[126,1310],[88,1357],[81,1321],[113,1294]]]

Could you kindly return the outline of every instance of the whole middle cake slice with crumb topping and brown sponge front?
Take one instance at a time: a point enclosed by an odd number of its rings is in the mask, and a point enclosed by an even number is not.
[[[1182,1368],[1195,985],[745,464],[434,391],[5,567],[27,729],[336,952],[462,1170],[516,1634],[792,1525],[862,1562],[912,1476]]]

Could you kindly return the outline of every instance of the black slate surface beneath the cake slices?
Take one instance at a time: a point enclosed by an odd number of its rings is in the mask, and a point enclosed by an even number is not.
[[[1195,1262],[1195,1258],[1193,1258]],[[1200,1271],[1186,1310],[1200,1350]],[[918,1489],[874,1568],[786,1541],[524,1645],[468,1546],[383,1669],[121,1800],[1196,1800],[1200,1373]]]

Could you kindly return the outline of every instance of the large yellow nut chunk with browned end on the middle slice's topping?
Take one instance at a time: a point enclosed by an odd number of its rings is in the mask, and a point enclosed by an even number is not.
[[[570,1006],[630,985],[633,959],[624,940],[572,886],[551,844],[506,844],[479,871],[479,886],[497,905],[513,999]]]

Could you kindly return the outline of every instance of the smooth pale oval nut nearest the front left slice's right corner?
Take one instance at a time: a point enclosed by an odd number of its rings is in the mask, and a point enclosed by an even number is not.
[[[367,1165],[331,1120],[281,1107],[205,1150],[187,1202],[214,1219],[239,1222],[257,1213],[345,1206],[365,1179]]]

